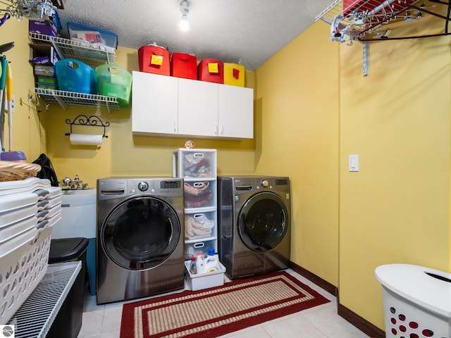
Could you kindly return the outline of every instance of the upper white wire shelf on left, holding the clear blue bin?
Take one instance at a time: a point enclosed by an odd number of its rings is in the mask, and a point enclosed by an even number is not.
[[[30,32],[30,39],[37,43],[52,44],[61,58],[75,58],[89,65],[114,63],[116,58],[116,49],[103,44],[51,37],[36,32]]]

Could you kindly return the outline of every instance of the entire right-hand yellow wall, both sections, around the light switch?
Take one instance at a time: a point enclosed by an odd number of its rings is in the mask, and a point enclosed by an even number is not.
[[[362,44],[328,36],[315,23],[257,70],[257,172],[292,178],[292,261],[383,329],[378,265],[451,270],[450,39],[373,43],[364,77]]]

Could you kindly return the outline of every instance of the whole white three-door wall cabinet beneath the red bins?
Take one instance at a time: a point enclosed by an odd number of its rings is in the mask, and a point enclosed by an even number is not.
[[[253,89],[133,72],[133,134],[252,139]]]

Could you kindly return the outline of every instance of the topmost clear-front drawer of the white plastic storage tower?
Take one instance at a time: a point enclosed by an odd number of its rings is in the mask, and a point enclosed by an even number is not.
[[[173,176],[216,178],[216,149],[178,149],[173,151]]]

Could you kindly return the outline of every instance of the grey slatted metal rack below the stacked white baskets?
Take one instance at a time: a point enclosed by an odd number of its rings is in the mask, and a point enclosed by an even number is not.
[[[50,264],[36,289],[9,321],[16,338],[44,338],[81,270],[82,262]]]

